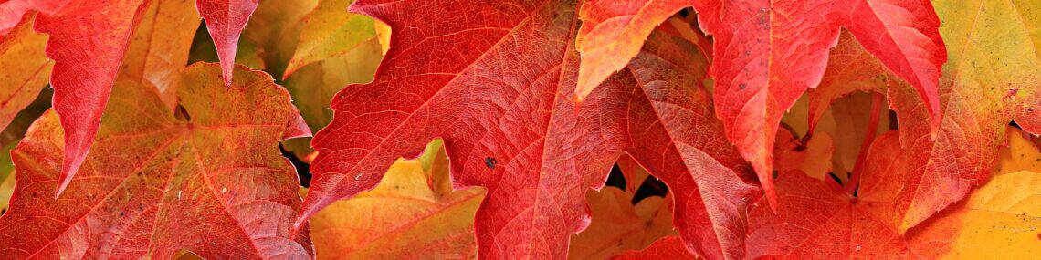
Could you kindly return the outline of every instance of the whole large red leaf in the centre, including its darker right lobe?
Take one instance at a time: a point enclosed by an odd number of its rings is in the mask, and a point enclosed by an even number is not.
[[[676,219],[689,249],[739,256],[756,189],[740,178],[751,167],[736,149],[712,135],[722,125],[697,87],[704,57],[663,40],[650,52],[668,55],[634,62],[576,107],[575,7],[355,2],[352,10],[396,30],[391,48],[373,83],[334,98],[300,220],[373,188],[393,160],[441,137],[455,185],[488,189],[475,224],[483,257],[565,257],[569,235],[588,223],[585,190],[603,185],[621,153],[680,192]],[[668,63],[697,58],[700,67]]]

